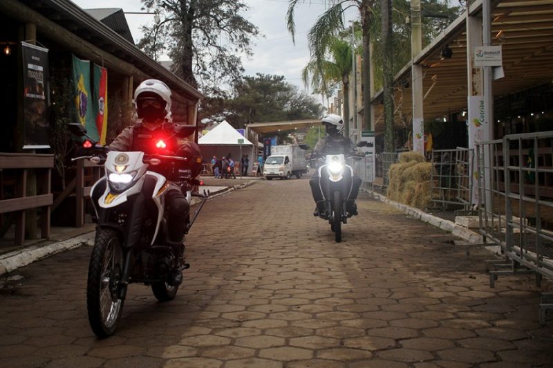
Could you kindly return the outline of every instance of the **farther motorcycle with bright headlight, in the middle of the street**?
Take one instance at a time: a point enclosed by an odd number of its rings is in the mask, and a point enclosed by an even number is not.
[[[360,159],[360,156],[348,156]],[[324,160],[318,167],[319,185],[323,192],[328,209],[328,223],[330,230],[335,234],[335,241],[341,242],[341,224],[348,222],[351,217],[346,212],[346,199],[351,192],[353,184],[353,168],[346,165],[346,155],[312,156],[311,160]],[[326,219],[326,217],[325,217]]]

